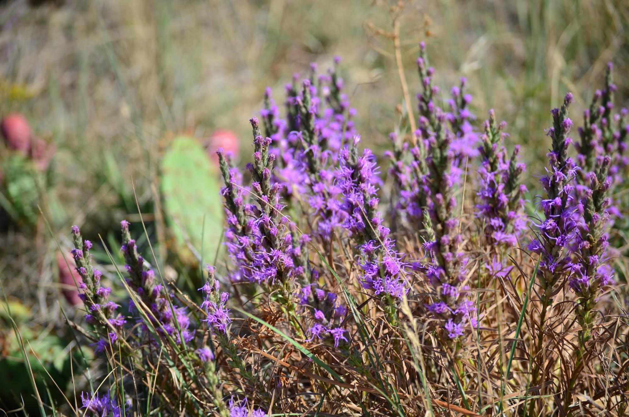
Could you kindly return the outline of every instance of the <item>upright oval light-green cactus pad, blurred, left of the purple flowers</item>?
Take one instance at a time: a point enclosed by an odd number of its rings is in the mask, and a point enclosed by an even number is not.
[[[198,140],[186,136],[172,140],[160,168],[164,211],[175,250],[189,263],[200,256],[212,262],[223,225],[218,169]]]

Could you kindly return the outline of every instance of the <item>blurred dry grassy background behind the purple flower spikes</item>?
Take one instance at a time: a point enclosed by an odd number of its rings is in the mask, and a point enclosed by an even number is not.
[[[0,276],[9,299],[21,300],[24,323],[63,333],[62,309],[73,311],[59,297],[63,271],[52,236],[65,250],[69,227],[79,224],[84,236],[99,242],[101,234],[115,248],[123,218],[140,234],[131,180],[159,262],[172,266],[170,272],[166,268],[170,278],[196,288],[198,258],[167,259],[166,253],[170,243],[181,246],[182,239],[188,249],[195,246],[192,236],[172,232],[185,229],[173,213],[195,202],[203,207],[196,217],[190,215],[192,221],[207,224],[203,230],[214,244],[219,240],[214,236],[222,221],[216,169],[211,159],[198,161],[194,149],[168,152],[191,146],[185,140],[173,145],[182,135],[197,138],[201,146],[213,132],[226,129],[236,135],[247,160],[247,121],[262,107],[264,88],[270,86],[281,105],[284,84],[295,72],[306,74],[310,62],[325,69],[333,55],[343,58],[358,130],[381,154],[404,108],[391,36],[394,20],[411,98],[420,89],[415,59],[418,43],[425,40],[443,93],[467,77],[477,118],[494,108],[509,123],[509,145],[523,144],[532,180],[543,170],[549,110],[565,91],[574,93],[576,108],[586,107],[612,61],[617,97],[629,96],[625,0],[408,1],[399,15],[391,4],[0,1],[0,116],[21,113],[33,135],[56,149],[45,172],[22,188],[6,190],[5,168],[4,200],[21,199],[30,207],[30,220],[9,218],[5,207],[0,221]],[[579,115],[572,113],[577,124]],[[8,152],[2,151],[6,160]],[[186,167],[189,160],[199,165]],[[164,178],[172,164],[177,171],[177,161],[184,166],[179,176]],[[30,169],[26,175],[35,175]],[[164,209],[161,194],[179,188],[186,188],[179,209],[172,202]],[[199,210],[206,215],[199,217]],[[107,259],[104,253],[96,256]],[[12,333],[8,321],[3,323],[1,353],[10,355]],[[60,334],[59,343],[62,336],[67,334]],[[50,363],[56,360],[64,369],[58,355],[67,350],[51,351],[58,352],[51,353]]]

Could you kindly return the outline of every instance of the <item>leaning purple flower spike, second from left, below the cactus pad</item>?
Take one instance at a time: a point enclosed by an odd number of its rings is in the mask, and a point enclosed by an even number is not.
[[[169,299],[164,285],[155,282],[155,273],[145,265],[144,258],[138,254],[135,240],[131,239],[129,222],[120,222],[123,244],[120,251],[125,257],[125,269],[128,273],[126,283],[138,294],[147,316],[155,331],[164,337],[172,337],[176,343],[189,343],[194,338],[190,317],[186,307],[178,307]],[[135,308],[133,300],[131,305]],[[142,320],[142,319],[140,319]],[[145,327],[146,324],[143,323]]]

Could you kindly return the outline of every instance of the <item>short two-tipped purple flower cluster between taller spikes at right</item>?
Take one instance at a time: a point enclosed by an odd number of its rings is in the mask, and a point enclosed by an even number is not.
[[[518,163],[520,146],[516,145],[508,157],[504,147],[506,123],[497,125],[493,110],[489,110],[489,120],[485,121],[484,127],[479,147],[481,166],[477,171],[479,203],[476,217],[484,228],[487,244],[514,247],[526,229],[526,217],[522,212],[526,186],[520,184],[520,175],[526,165]]]

